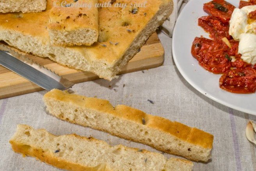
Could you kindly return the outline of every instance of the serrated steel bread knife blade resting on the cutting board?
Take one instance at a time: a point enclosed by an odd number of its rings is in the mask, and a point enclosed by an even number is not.
[[[43,89],[48,91],[52,89],[65,90],[74,85],[71,81],[64,79],[5,45],[1,45],[0,49],[2,50],[0,51],[0,65]]]

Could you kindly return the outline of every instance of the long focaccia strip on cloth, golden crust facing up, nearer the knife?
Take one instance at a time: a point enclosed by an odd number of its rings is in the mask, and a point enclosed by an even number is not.
[[[213,135],[179,122],[146,114],[129,106],[53,89],[44,95],[46,109],[55,117],[149,145],[193,161],[211,158]]]

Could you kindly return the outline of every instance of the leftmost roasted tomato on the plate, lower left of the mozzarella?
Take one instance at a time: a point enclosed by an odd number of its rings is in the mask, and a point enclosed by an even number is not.
[[[212,73],[224,73],[230,68],[231,60],[227,58],[227,51],[228,46],[203,37],[196,37],[191,48],[199,65]]]

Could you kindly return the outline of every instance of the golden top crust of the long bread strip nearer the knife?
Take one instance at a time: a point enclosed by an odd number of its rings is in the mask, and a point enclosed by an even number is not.
[[[148,127],[159,129],[193,145],[212,149],[212,134],[206,133],[197,128],[188,127],[179,122],[172,122],[171,120],[167,120],[162,117],[146,114],[129,106],[117,105],[114,108],[107,100],[87,98],[76,94],[68,94],[68,92],[62,92],[57,89],[53,89],[52,91],[46,93],[44,98],[53,98],[72,103],[73,105],[78,105],[82,108],[89,108],[98,112],[112,114],[123,119],[133,120],[139,124],[142,124],[143,118],[145,120],[145,125]]]

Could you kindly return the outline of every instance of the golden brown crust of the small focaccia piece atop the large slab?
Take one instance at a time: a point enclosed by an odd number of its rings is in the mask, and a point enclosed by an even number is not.
[[[63,3],[65,2],[65,3]],[[74,2],[74,0],[60,0],[59,4],[68,5],[71,4],[71,7],[55,6],[52,7],[49,13],[50,21],[47,26],[49,31],[55,30],[65,34],[74,32],[76,36],[82,37],[82,31],[80,30],[93,30],[96,33],[95,41],[98,39],[99,35],[99,14],[98,8],[95,7],[95,4],[98,3],[98,0],[79,0]],[[85,5],[85,6],[82,6]],[[88,5],[88,6],[87,6]],[[85,30],[86,29],[86,30]],[[63,35],[65,35],[63,34]],[[84,33],[85,34],[85,33]],[[51,39],[54,39],[50,37]],[[85,40],[83,40],[85,41]],[[84,43],[84,42],[67,42],[63,40],[61,43],[53,41],[53,45],[92,45],[94,42]]]

